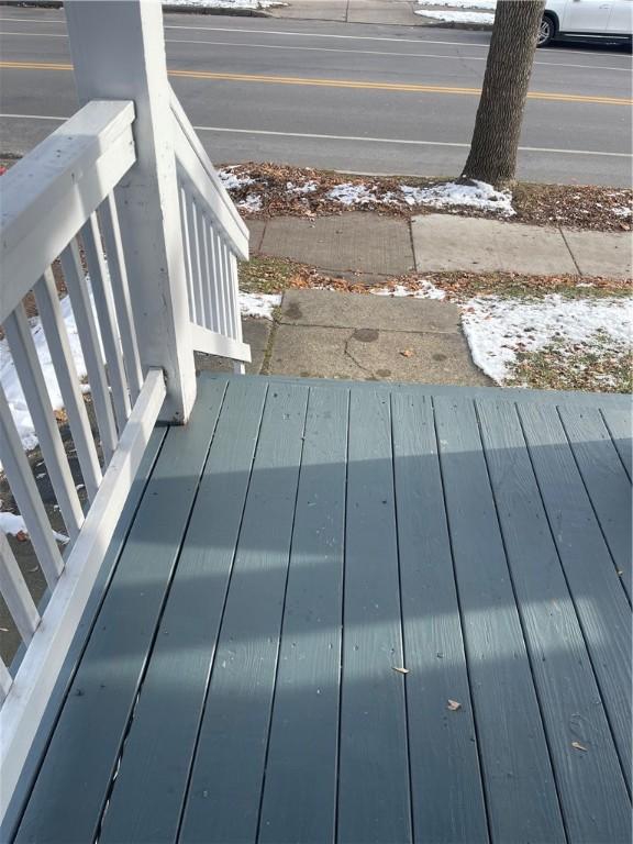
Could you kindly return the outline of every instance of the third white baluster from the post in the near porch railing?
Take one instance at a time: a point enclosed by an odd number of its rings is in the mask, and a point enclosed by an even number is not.
[[[90,393],[95,402],[97,424],[101,436],[101,447],[106,466],[116,448],[116,425],[112,412],[112,402],[110,401],[110,390],[103,366],[103,356],[101,354],[101,341],[95,320],[95,311],[88,295],[88,289],[81,269],[79,252],[75,241],[70,243],[62,253],[62,268],[66,279],[66,287],[70,295],[77,332],[81,342],[84,362],[88,373],[90,384]]]

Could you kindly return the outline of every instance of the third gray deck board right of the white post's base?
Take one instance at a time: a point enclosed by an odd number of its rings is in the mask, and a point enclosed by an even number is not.
[[[270,389],[180,841],[255,841],[308,388]],[[210,829],[209,819],[213,819]]]

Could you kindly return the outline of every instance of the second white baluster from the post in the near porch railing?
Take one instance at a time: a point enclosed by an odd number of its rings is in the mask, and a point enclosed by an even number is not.
[[[125,382],[123,357],[116,334],[118,326],[114,316],[112,291],[108,282],[108,269],[101,251],[101,233],[99,232],[96,214],[90,214],[88,221],[81,226],[81,241],[86,252],[86,263],[88,264],[95,307],[101,329],[101,341],[106,352],[108,380],[110,381],[114,402],[114,415],[119,433],[121,433],[125,427],[125,422],[131,411],[130,395]]]

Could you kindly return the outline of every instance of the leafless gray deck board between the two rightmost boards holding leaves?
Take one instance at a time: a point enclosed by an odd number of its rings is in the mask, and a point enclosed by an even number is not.
[[[444,397],[434,407],[491,837],[564,842],[475,408]]]

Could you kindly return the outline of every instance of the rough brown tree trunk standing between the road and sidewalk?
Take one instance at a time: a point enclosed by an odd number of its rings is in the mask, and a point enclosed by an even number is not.
[[[523,109],[544,0],[498,0],[481,99],[463,179],[514,180]]]

